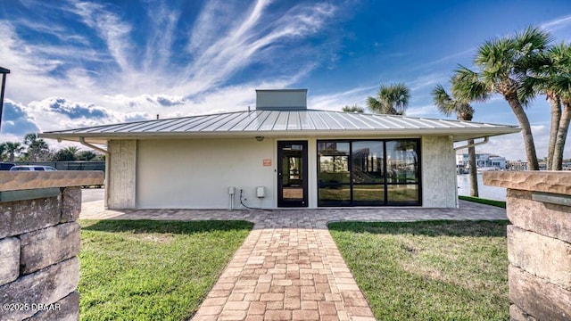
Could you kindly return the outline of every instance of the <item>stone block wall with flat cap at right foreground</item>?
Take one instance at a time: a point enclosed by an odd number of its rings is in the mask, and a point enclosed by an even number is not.
[[[571,173],[489,172],[508,188],[512,320],[571,319]]]

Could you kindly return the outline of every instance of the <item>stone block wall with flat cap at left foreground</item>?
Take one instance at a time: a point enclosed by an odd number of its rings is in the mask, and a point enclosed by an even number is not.
[[[81,185],[103,172],[0,173],[0,320],[79,319]]]

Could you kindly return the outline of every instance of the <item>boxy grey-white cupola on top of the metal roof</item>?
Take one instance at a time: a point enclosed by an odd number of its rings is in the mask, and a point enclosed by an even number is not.
[[[256,89],[256,110],[307,110],[307,89]]]

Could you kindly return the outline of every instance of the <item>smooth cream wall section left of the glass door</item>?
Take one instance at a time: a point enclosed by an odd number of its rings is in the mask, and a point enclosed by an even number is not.
[[[141,140],[137,160],[137,208],[229,209],[229,186],[236,187],[236,209],[240,189],[247,205],[275,207],[272,139]],[[265,198],[255,196],[256,186],[265,186]]]

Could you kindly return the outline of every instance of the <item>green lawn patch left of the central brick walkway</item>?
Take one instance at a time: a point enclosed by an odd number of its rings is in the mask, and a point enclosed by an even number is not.
[[[81,320],[186,320],[253,226],[244,221],[79,224]]]

